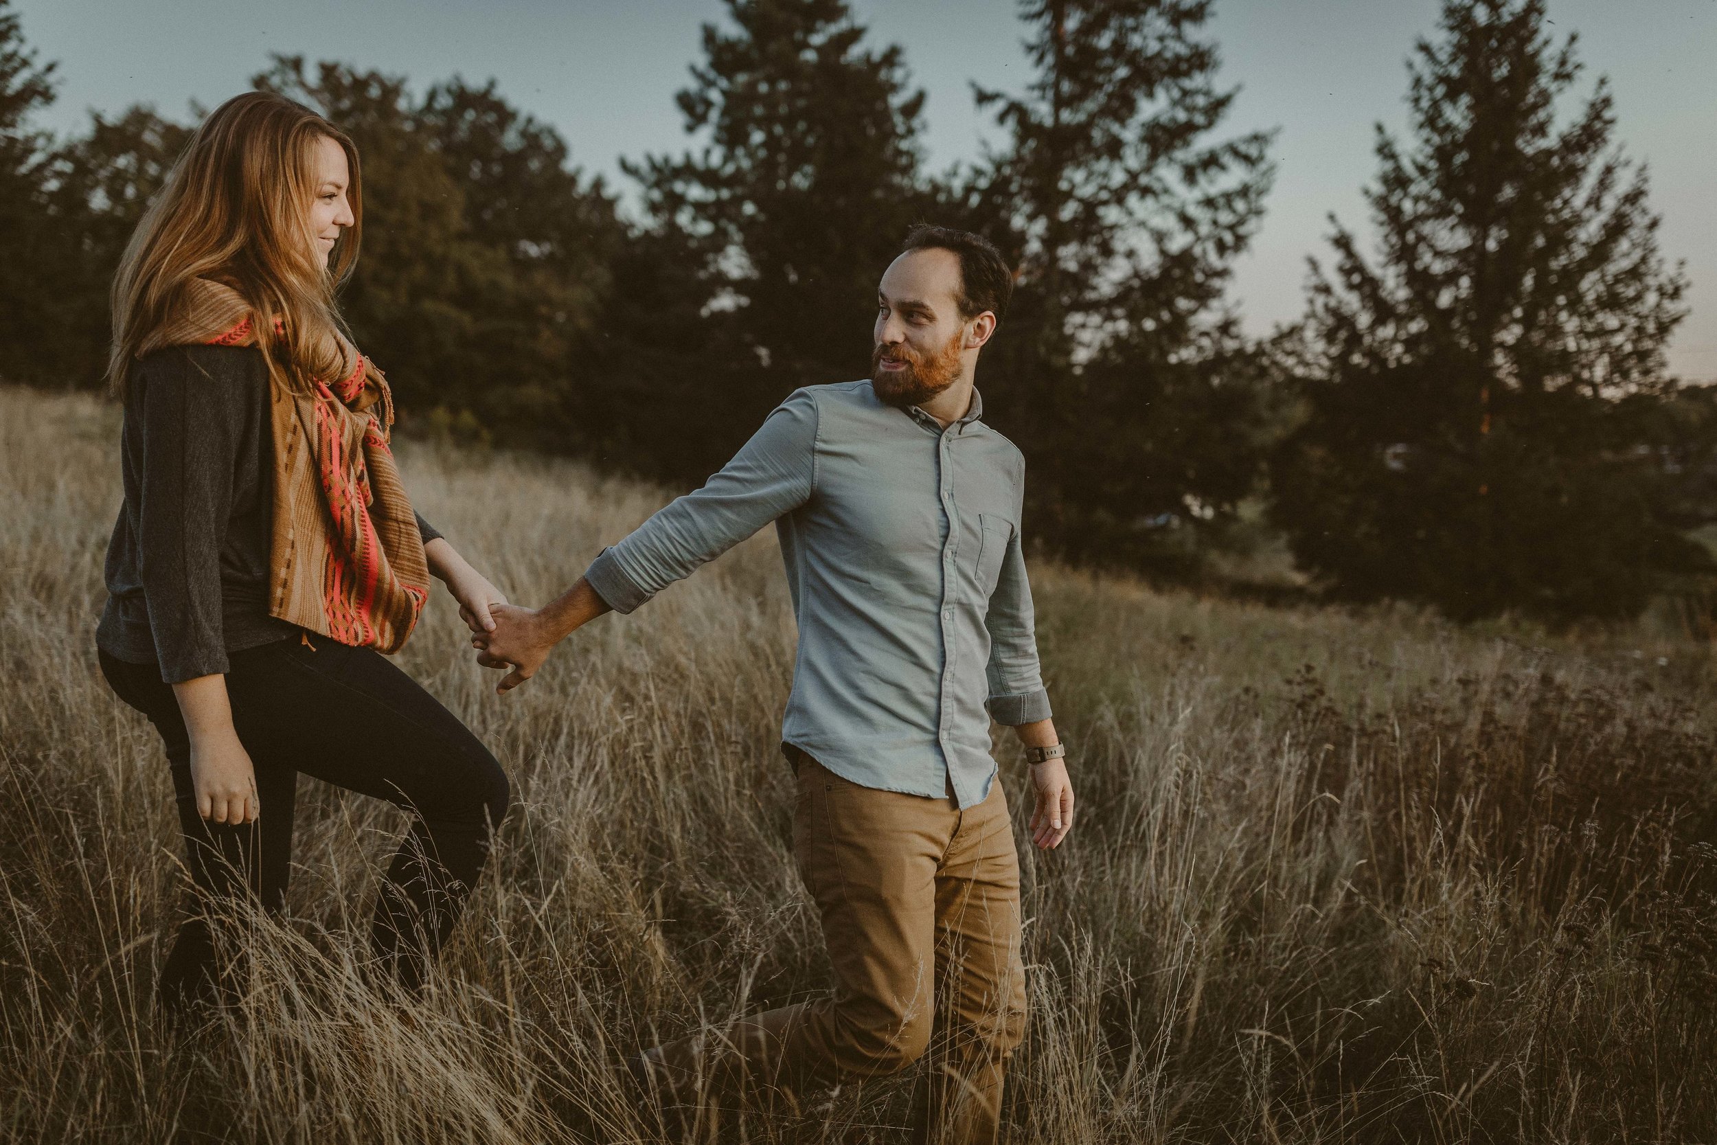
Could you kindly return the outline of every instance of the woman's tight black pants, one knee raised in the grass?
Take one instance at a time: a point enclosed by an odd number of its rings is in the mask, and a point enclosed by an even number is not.
[[[465,724],[379,654],[314,635],[307,640],[228,656],[234,728],[256,767],[261,812],[254,824],[208,822],[197,814],[191,738],[160,668],[101,652],[101,675],[161,733],[191,875],[209,906],[244,894],[270,912],[285,906],[300,771],[409,810],[410,833],[376,900],[371,948],[378,968],[417,989],[507,814],[507,776]],[[216,956],[208,913],[189,912],[179,929],[160,982],[170,1006],[237,985],[242,963]]]

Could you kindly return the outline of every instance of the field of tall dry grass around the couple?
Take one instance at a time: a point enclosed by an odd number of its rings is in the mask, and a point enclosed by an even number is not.
[[[505,700],[438,597],[403,663],[519,798],[445,973],[419,1004],[361,984],[402,817],[304,781],[252,991],[167,1037],[170,785],[91,645],[115,441],[110,407],[0,390],[0,1138],[659,1140],[610,1054],[822,985],[762,536]],[[568,463],[402,455],[424,515],[527,603],[661,501]],[[1025,857],[1008,1140],[1717,1140],[1705,645],[1034,584],[1080,821]],[[907,1085],[731,1109],[721,1140],[900,1140]]]

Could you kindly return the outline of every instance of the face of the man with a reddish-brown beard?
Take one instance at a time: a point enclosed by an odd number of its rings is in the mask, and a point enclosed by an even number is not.
[[[908,251],[877,287],[871,386],[898,405],[922,405],[965,371],[967,319],[960,316],[960,256]]]

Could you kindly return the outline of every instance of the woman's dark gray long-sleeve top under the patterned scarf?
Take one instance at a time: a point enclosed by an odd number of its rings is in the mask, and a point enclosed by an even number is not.
[[[127,379],[125,501],[108,542],[96,644],[179,683],[227,652],[299,633],[268,615],[273,441],[254,347],[175,347]],[[440,534],[417,518],[424,541]]]

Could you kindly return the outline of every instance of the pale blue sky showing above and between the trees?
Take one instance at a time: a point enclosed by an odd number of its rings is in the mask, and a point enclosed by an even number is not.
[[[496,77],[555,124],[579,165],[618,173],[622,154],[685,144],[673,91],[719,0],[14,0],[24,34],[60,62],[60,103],[43,118],[77,130],[89,108],[155,103],[184,113],[240,91],[270,51],[378,67],[428,84]],[[898,41],[929,91],[934,167],[977,154],[994,129],[968,81],[1027,76],[1011,0],[853,0],[879,41]],[[1217,0],[1224,81],[1241,84],[1231,127],[1279,127],[1276,191],[1235,299],[1267,331],[1300,312],[1305,257],[1327,251],[1326,216],[1363,230],[1372,124],[1403,122],[1403,60],[1434,29],[1437,0]],[[1587,79],[1607,74],[1619,137],[1648,161],[1664,251],[1686,261],[1693,314],[1671,366],[1717,379],[1717,0],[1550,0],[1580,31]]]

